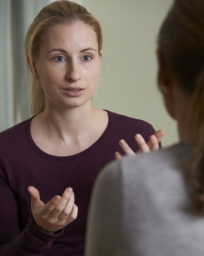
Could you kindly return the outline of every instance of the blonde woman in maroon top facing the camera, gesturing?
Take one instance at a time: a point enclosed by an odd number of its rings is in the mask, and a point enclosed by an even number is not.
[[[0,134],[0,255],[81,256],[97,173],[115,151],[157,150],[163,131],[91,105],[102,34],[84,7],[47,5],[24,48],[33,117]]]

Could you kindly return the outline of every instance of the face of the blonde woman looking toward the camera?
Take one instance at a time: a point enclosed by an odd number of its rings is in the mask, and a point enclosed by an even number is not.
[[[34,61],[46,106],[73,108],[91,103],[100,66],[101,53],[91,26],[77,22],[47,28]]]

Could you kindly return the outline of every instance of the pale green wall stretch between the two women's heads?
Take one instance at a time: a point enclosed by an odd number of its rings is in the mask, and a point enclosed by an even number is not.
[[[171,0],[84,0],[104,33],[95,106],[164,129],[163,145],[178,140],[157,88],[156,38]]]

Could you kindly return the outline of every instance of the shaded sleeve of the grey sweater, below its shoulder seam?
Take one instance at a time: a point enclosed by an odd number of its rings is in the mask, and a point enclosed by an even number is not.
[[[121,185],[119,162],[106,166],[91,197],[85,256],[121,255]]]

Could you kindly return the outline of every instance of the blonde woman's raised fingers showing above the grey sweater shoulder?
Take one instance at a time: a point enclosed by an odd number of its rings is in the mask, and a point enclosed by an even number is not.
[[[160,129],[155,134],[151,135],[149,137],[149,142],[146,143],[141,134],[136,134],[135,140],[140,148],[138,153],[149,153],[150,151],[159,150],[159,142],[163,136],[164,130]],[[135,152],[130,148],[125,140],[120,140],[119,145],[121,146],[125,155],[135,155]],[[116,160],[119,160],[122,158],[122,156],[119,152],[115,152],[115,158]]]

